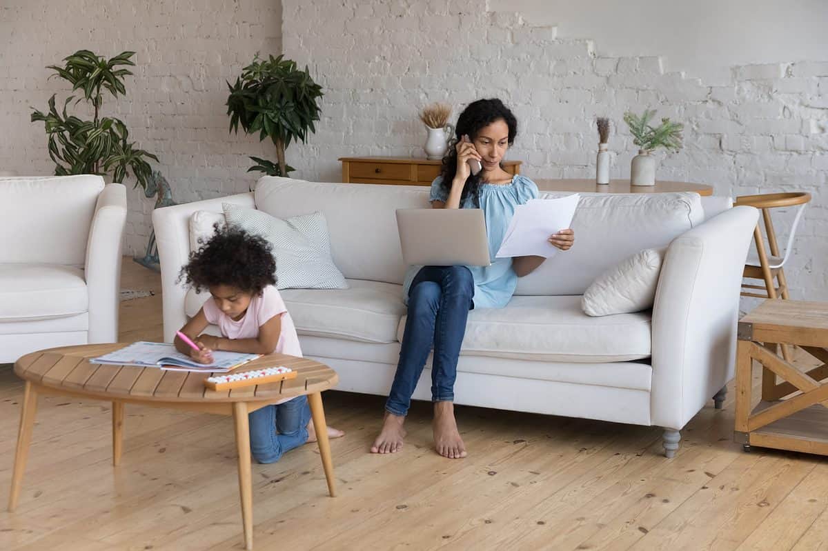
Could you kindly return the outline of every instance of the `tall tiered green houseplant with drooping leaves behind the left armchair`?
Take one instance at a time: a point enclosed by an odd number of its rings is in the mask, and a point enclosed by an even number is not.
[[[132,170],[137,182],[147,188],[147,181],[152,175],[147,159],[158,161],[158,157],[137,149],[134,141],[129,141],[127,126],[118,118],[101,117],[103,93],[109,92],[113,98],[125,95],[127,89],[123,78],[132,74],[123,65],[135,65],[129,58],[133,51],[124,51],[110,60],[94,54],[89,50],[78,50],[64,59],[65,65],[49,65],[55,74],[72,84],[72,91],[82,90],[83,96],[75,101],[91,104],[94,119],[84,121],[66,112],[75,96],[66,98],[63,108],[55,108],[55,96],[49,99],[48,113],[35,110],[31,113],[31,122],[42,121],[49,136],[49,156],[55,161],[55,175],[112,173],[113,182],[123,182]],[[120,68],[119,68],[120,67]]]

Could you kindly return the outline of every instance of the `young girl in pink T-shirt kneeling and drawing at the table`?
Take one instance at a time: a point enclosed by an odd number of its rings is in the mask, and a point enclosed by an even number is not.
[[[181,328],[200,350],[176,336],[178,351],[202,363],[212,361],[213,350],[301,357],[291,314],[274,286],[275,272],[271,246],[262,237],[234,228],[217,229],[181,269],[180,280],[213,296]],[[221,337],[201,333],[210,323],[219,326]],[[304,395],[267,405],[249,419],[250,449],[260,463],[277,462],[286,451],[316,439]],[[343,434],[328,428],[330,438]]]

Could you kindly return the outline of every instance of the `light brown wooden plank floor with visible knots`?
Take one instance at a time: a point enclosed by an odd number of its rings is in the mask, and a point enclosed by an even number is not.
[[[161,338],[157,275],[125,262],[121,340]],[[756,373],[758,375],[758,372]],[[758,384],[758,378],[756,379]],[[253,465],[255,549],[828,549],[828,462],[733,442],[732,393],[701,410],[676,458],[657,428],[458,408],[465,460],[431,450],[430,408],[406,448],[367,453],[383,400],[325,393],[339,496],[318,450]],[[0,369],[0,504],[22,384]],[[107,403],[42,398],[17,512],[0,549],[242,549],[229,418],[127,406],[120,467]]]

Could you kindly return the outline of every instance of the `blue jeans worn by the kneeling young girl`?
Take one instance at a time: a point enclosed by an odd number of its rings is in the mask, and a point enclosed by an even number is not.
[[[266,405],[248,415],[250,452],[260,463],[275,463],[282,453],[308,440],[310,406],[306,396],[279,405]],[[278,431],[278,433],[277,433]]]

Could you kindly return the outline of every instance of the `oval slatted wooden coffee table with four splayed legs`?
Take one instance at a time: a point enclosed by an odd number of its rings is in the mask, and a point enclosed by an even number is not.
[[[236,372],[262,367],[285,366],[297,371],[295,379],[217,392],[207,390],[209,374],[163,371],[156,367],[108,366],[89,362],[125,343],[88,344],[32,352],[14,364],[14,372],[26,381],[17,450],[14,456],[12,491],[8,510],[17,507],[26,455],[31,441],[37,396],[70,395],[112,402],[113,465],[121,460],[124,404],[152,405],[175,410],[233,415],[238,449],[238,490],[242,501],[244,544],[253,549],[253,490],[250,480],[250,433],[248,414],[284,398],[307,395],[319,442],[322,466],[330,496],[335,496],[334,467],[330,459],[328,433],[321,392],[335,386],[339,377],[330,367],[306,358],[270,354],[248,363]]]

